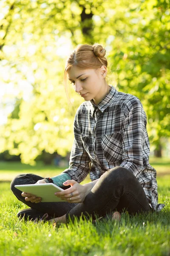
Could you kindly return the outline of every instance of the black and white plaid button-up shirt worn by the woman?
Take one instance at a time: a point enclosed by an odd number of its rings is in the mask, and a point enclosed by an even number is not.
[[[150,144],[146,114],[140,100],[113,86],[96,106],[83,102],[74,119],[74,144],[68,173],[80,183],[116,166],[130,170],[141,183],[153,209],[158,203],[156,170],[149,164]]]

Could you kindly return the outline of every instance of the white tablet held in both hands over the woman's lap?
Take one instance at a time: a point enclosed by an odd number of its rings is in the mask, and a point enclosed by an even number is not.
[[[28,184],[28,185],[15,185],[15,188],[22,192],[30,193],[36,197],[41,197],[41,202],[64,202],[67,200],[62,200],[61,198],[54,195],[57,191],[63,191],[60,187],[54,185],[53,183],[46,184]]]

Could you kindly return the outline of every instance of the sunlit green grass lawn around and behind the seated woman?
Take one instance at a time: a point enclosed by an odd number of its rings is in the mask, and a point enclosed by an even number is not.
[[[161,163],[161,161],[163,163]],[[130,217],[120,222],[80,220],[55,227],[48,223],[20,221],[16,214],[26,206],[9,189],[9,182],[0,183],[0,255],[57,256],[169,256],[170,255],[170,162],[154,160],[158,171],[159,203],[162,212]],[[42,176],[57,175],[63,168],[30,167],[18,163],[1,163],[0,179],[11,180],[21,172]],[[87,178],[84,182],[88,182]]]

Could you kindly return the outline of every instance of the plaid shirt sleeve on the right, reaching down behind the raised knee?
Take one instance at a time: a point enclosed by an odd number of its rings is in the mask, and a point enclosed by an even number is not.
[[[143,143],[147,136],[146,114],[139,99],[128,102],[122,125],[122,163],[135,177],[143,169]]]

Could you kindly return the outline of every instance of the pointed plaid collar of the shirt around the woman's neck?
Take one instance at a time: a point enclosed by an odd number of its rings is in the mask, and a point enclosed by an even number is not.
[[[90,100],[91,116],[93,116],[93,113],[97,108],[99,108],[99,110],[103,113],[103,111],[113,103],[114,97],[118,92],[112,85],[109,86],[111,89],[97,106],[94,104],[93,100]]]

